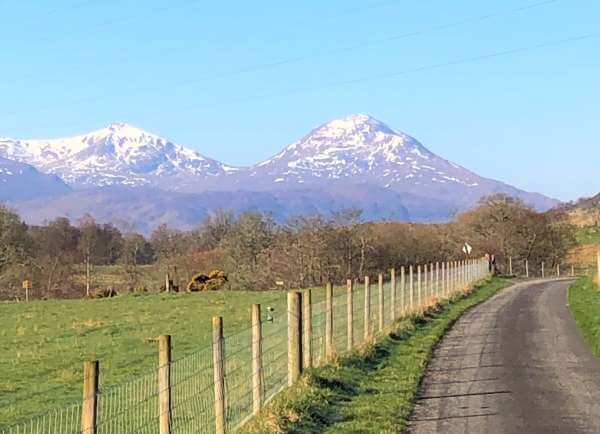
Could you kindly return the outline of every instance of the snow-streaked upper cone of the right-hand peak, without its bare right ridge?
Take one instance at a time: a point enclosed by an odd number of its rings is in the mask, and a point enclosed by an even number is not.
[[[401,190],[408,183],[479,184],[477,175],[436,156],[408,134],[364,114],[317,127],[250,168],[250,175],[263,184],[350,179]]]

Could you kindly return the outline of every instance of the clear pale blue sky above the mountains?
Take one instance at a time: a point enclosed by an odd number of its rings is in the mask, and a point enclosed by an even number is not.
[[[597,0],[0,0],[0,136],[122,121],[249,165],[367,113],[571,200],[600,191],[599,22]]]

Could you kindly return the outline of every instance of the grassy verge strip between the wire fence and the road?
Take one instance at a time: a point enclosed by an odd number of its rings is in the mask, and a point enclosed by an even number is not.
[[[510,280],[494,278],[445,302],[360,353],[311,370],[251,421],[247,433],[402,432],[432,349],[470,307]]]

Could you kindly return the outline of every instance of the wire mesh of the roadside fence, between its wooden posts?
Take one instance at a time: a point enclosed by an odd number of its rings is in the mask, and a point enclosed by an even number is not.
[[[308,364],[307,359],[310,359],[312,366],[320,366],[327,362],[328,317],[332,318],[330,351],[332,355],[344,355],[361,346],[366,338],[370,339],[387,330],[393,324],[394,317],[401,319],[472,287],[474,282],[487,275],[488,268],[487,262],[480,260],[474,262],[470,268],[457,264],[448,266],[444,263],[437,267],[435,264],[428,264],[420,268],[420,273],[418,267],[405,267],[397,271],[395,286],[392,285],[388,274],[383,276],[381,284],[377,278],[370,280],[369,285],[353,282],[351,298],[346,286],[335,287],[329,311],[325,293],[313,290],[310,354],[304,355],[304,365]],[[467,271],[469,273],[466,273]],[[306,317],[303,321],[306,321]],[[253,378],[256,360],[253,359],[252,328],[225,333],[222,339],[225,410],[223,423],[227,432],[235,431],[254,414],[255,396],[260,395],[261,405],[264,405],[288,385],[286,313],[263,312],[260,330],[262,340],[259,353],[259,383],[255,383],[256,377]],[[216,432],[213,351],[213,345],[200,348],[173,359],[168,365],[171,406],[167,411],[172,433]],[[162,367],[157,366],[156,369],[148,370],[128,382],[100,387],[96,395],[96,432],[159,432],[160,420],[165,416],[160,410],[161,396],[164,397],[164,391],[159,390],[158,386],[161,369]],[[261,385],[260,394],[253,389],[254,384]],[[82,433],[81,415],[85,404],[75,403],[25,423],[0,428],[0,434]]]

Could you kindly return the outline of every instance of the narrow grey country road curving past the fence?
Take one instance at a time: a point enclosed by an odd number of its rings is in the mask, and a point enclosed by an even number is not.
[[[518,284],[437,347],[411,433],[600,433],[600,363],[566,305],[571,280]]]

